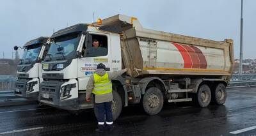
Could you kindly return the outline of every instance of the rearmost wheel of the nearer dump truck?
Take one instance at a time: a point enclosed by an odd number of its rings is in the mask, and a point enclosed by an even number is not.
[[[214,90],[213,94],[213,100],[214,103],[218,105],[222,105],[226,102],[227,99],[227,92],[226,92],[226,86],[224,84],[218,84]]]

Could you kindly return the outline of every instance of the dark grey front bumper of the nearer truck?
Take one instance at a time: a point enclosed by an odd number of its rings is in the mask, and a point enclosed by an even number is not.
[[[70,93],[69,98],[60,99],[61,95],[61,87],[70,82],[60,82],[60,81],[44,81],[40,84],[39,89],[39,102],[45,105],[49,105],[51,107],[56,107],[58,109],[65,109],[65,110],[81,110],[81,109],[89,109],[92,108],[92,103],[83,104],[83,107],[79,105],[79,98],[78,98],[78,87],[77,81],[76,87],[72,88],[72,93]],[[72,82],[72,84],[74,84]],[[71,92],[70,91],[70,92]],[[84,98],[85,102],[85,98]]]

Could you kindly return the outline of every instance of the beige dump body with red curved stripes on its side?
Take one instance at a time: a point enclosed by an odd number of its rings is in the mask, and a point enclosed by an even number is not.
[[[129,75],[227,75],[232,73],[232,40],[216,42],[136,28],[124,31],[122,59]]]

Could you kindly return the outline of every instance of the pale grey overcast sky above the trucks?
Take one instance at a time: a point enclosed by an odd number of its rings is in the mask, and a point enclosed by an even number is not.
[[[244,58],[256,58],[256,1],[244,0]],[[137,17],[142,26],[170,33],[223,41],[234,40],[239,57],[241,0],[1,0],[0,58],[12,58],[13,46],[51,36],[77,23],[118,13]]]

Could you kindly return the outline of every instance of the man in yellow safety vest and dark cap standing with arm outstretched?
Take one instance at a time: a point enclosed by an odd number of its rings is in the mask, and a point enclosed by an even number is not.
[[[86,102],[90,102],[92,93],[95,95],[95,107],[97,108],[98,128],[97,132],[104,130],[113,130],[113,116],[111,103],[113,100],[112,94],[112,79],[122,75],[127,71],[120,70],[118,72],[106,72],[106,66],[102,63],[97,65],[96,72],[90,76],[86,86]],[[106,116],[106,125],[105,124]]]

